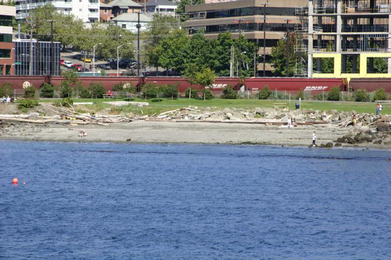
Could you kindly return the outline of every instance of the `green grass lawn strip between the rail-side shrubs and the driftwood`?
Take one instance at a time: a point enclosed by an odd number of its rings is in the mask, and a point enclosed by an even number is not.
[[[123,99],[118,99],[123,100]],[[53,102],[54,99],[41,99],[40,102]],[[94,102],[97,107],[102,107],[102,103],[106,101],[116,101],[116,99],[73,99],[73,102]],[[242,109],[251,109],[256,107],[274,107],[274,103],[286,103],[287,107],[290,109],[295,109],[295,103],[297,100],[291,100],[289,105],[289,100],[223,100],[223,99],[213,99],[213,100],[195,100],[195,99],[131,99],[131,101],[139,102],[149,102],[149,106],[143,108],[134,108],[130,106],[129,108],[120,107],[116,110],[121,110],[123,112],[138,112],[143,111],[144,114],[152,115],[153,113],[161,113],[164,111],[174,110],[176,108],[187,107],[189,105],[197,107],[211,107],[211,108],[242,108]],[[336,109],[337,111],[351,111],[354,110],[358,113],[375,113],[376,105],[374,102],[345,102],[345,101],[302,101],[302,109],[314,109],[314,110],[331,110]],[[391,104],[383,104],[383,114],[391,114]]]

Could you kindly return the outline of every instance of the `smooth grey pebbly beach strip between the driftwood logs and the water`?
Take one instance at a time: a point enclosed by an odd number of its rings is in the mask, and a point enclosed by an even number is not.
[[[82,128],[86,137],[78,136]],[[23,124],[2,128],[2,140],[61,141],[61,142],[117,142],[117,143],[207,143],[207,144],[271,144],[308,146],[312,132],[317,144],[332,142],[345,135],[350,127],[339,128],[331,124],[299,125],[294,128],[277,125],[174,122],[138,120],[130,123],[101,125]],[[390,145],[342,144],[342,146],[377,147],[390,149]]]

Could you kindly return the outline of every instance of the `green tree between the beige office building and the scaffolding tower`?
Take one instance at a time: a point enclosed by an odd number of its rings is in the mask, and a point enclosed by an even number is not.
[[[286,34],[285,34],[286,39]],[[294,74],[296,59],[298,55],[295,53],[296,35],[289,33],[288,42],[286,40],[279,40],[276,47],[272,47],[271,63],[273,64],[273,73],[276,76],[292,77]],[[289,45],[289,52],[287,47]],[[286,75],[286,58],[289,60],[289,71]]]

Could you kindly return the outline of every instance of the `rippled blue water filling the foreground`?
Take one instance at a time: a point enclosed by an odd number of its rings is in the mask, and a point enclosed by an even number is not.
[[[390,151],[0,147],[0,259],[391,258]]]

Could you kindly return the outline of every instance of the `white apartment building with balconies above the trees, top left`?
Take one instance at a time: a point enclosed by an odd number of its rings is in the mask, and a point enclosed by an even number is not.
[[[31,9],[48,3],[58,12],[72,14],[84,22],[99,22],[99,0],[17,0],[15,19],[25,19]]]

